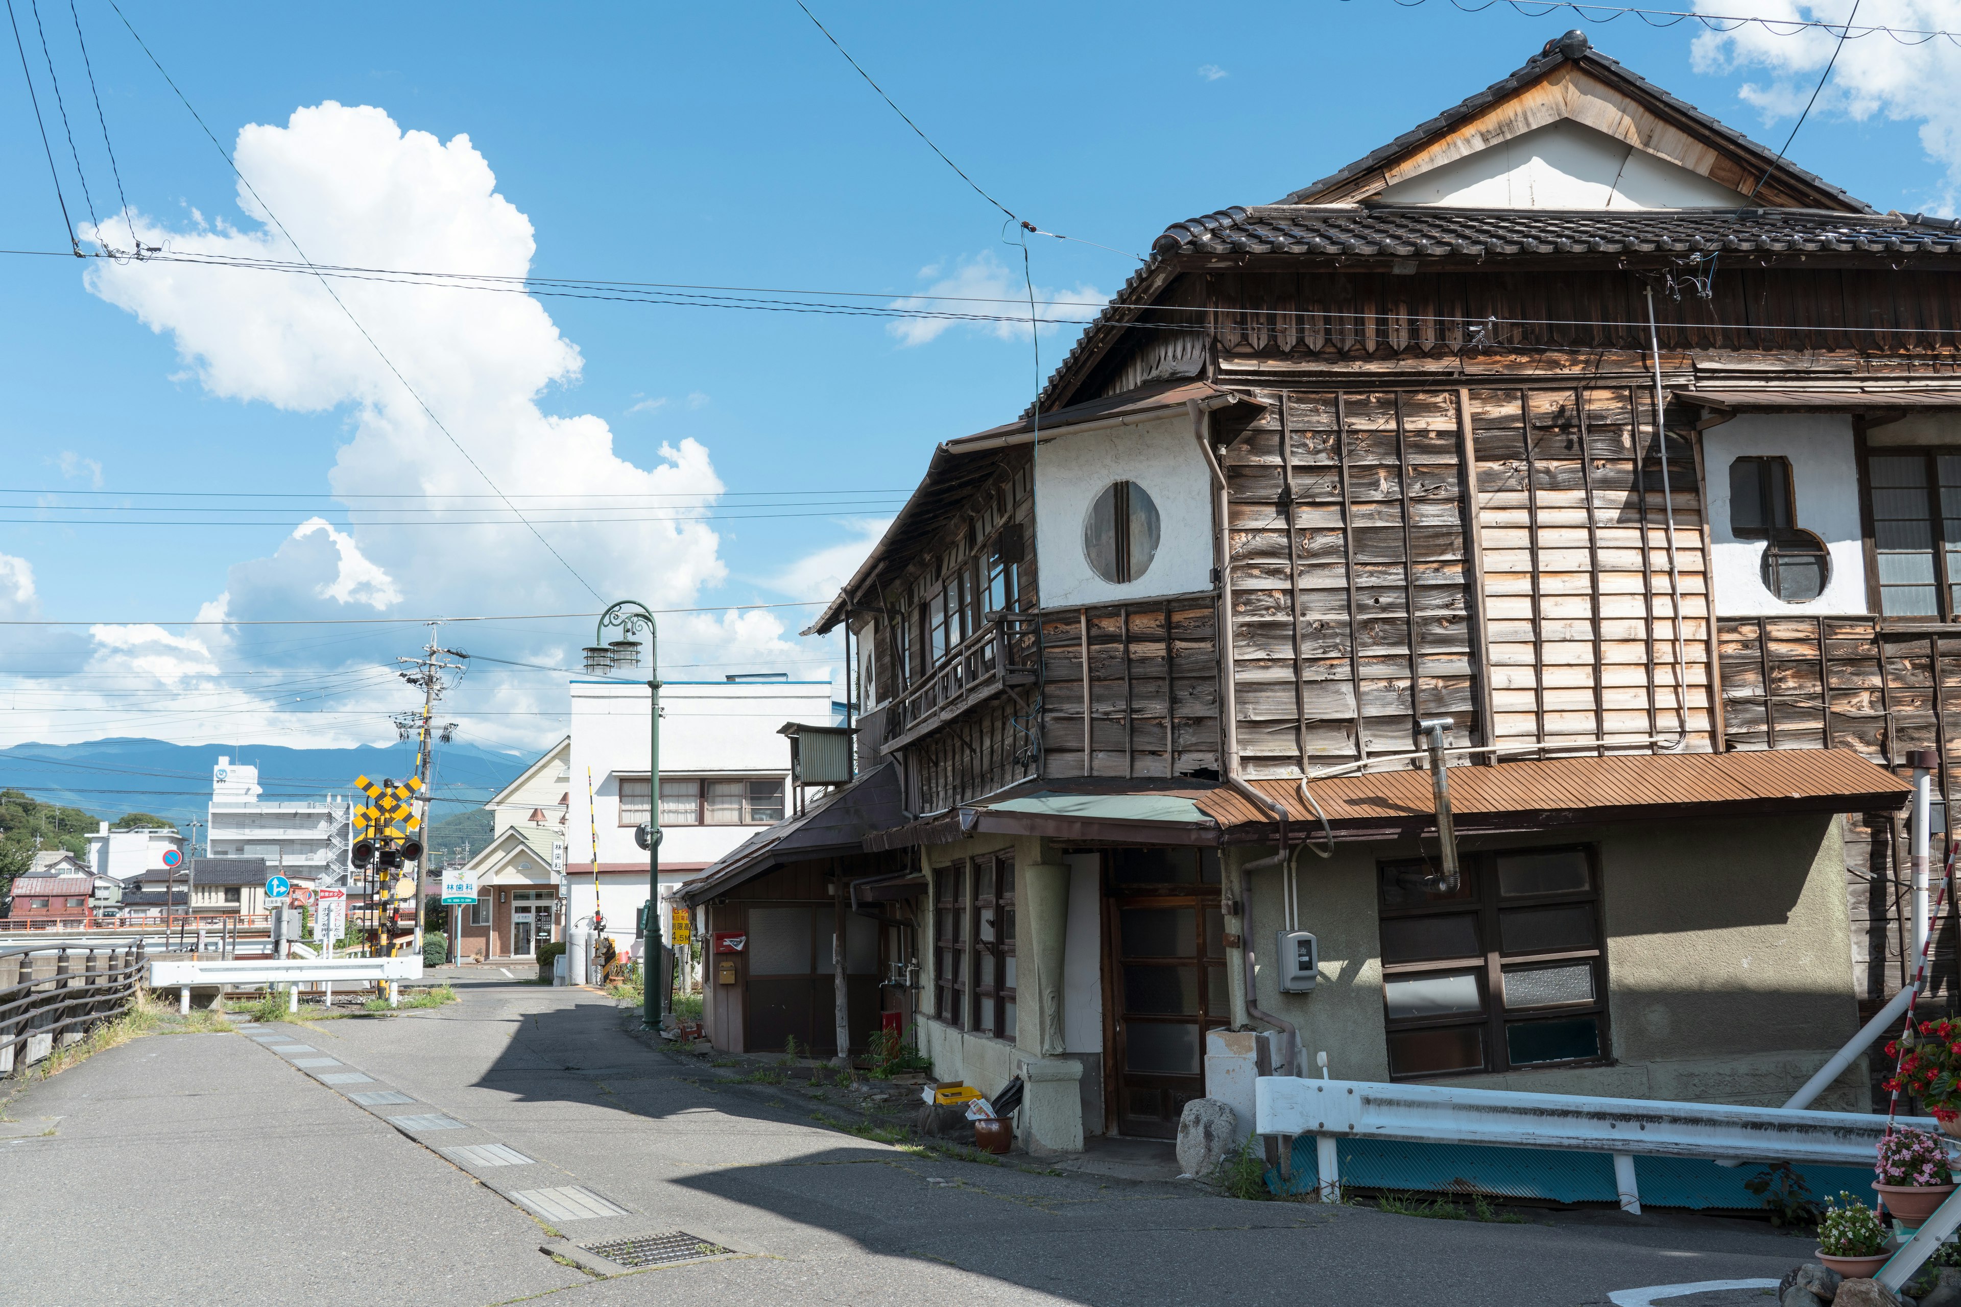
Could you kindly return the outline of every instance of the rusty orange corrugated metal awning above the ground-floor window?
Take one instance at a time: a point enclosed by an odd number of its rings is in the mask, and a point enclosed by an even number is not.
[[[1543,823],[1622,817],[1890,811],[1912,786],[1849,749],[1755,752],[1616,754],[1547,758],[1498,766],[1453,766],[1451,813],[1459,825],[1530,817]],[[1314,821],[1298,782],[1255,780],[1255,790],[1286,803],[1290,821]],[[1430,772],[1367,772],[1308,782],[1328,823],[1343,827],[1426,825],[1435,801]],[[1200,811],[1222,827],[1271,825],[1245,798],[1214,790]]]

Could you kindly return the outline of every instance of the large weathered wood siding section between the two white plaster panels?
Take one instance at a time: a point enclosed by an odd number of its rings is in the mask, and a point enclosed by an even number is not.
[[[1502,756],[1712,747],[1694,453],[1665,500],[1637,390],[1257,394],[1224,455],[1247,776],[1408,754],[1420,717]]]

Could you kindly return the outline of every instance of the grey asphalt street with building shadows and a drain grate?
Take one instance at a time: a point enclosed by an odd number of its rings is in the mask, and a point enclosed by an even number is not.
[[[51,1133],[0,1142],[0,1301],[1573,1307],[1810,1250],[1734,1221],[1426,1221],[918,1156],[643,1046],[594,993],[461,993],[141,1039],[16,1095]],[[733,1256],[598,1280],[539,1250],[671,1231]]]

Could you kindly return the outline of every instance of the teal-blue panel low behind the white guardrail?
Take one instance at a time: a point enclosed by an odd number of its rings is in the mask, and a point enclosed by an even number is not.
[[[1492,1148],[1484,1144],[1424,1144],[1396,1138],[1337,1140],[1341,1184],[1357,1189],[1408,1193],[1488,1193],[1555,1203],[1612,1203],[1614,1158],[1569,1148]],[[1320,1186],[1314,1137],[1294,1138],[1292,1180],[1267,1172],[1275,1193],[1312,1193]],[[1763,1199],[1743,1187],[1761,1164],[1716,1166],[1704,1158],[1635,1158],[1641,1203],[1653,1207],[1757,1211]],[[1873,1203],[1873,1172],[1853,1166],[1812,1166],[1798,1172],[1812,1197],[1849,1191]]]

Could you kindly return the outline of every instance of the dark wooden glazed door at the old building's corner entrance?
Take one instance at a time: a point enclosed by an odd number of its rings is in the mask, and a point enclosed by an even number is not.
[[[1184,1103],[1206,1093],[1206,1031],[1232,1019],[1220,892],[1204,884],[1216,860],[1112,850],[1106,868],[1110,1119],[1118,1135],[1175,1138]]]

